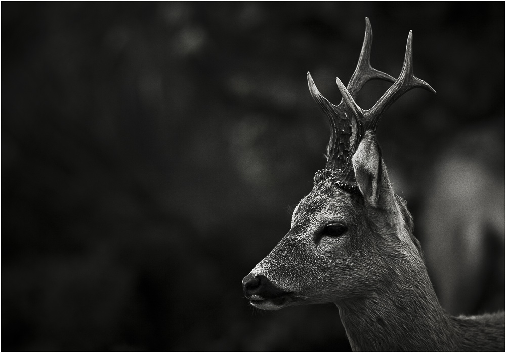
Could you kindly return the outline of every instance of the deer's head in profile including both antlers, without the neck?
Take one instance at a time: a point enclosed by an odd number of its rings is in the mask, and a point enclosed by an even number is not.
[[[291,229],[243,281],[245,296],[261,309],[288,305],[347,302],[381,291],[399,275],[399,263],[424,266],[404,201],[390,185],[375,138],[385,110],[408,90],[435,91],[413,75],[412,33],[397,79],[370,65],[372,31],[366,18],[362,51],[350,82],[336,83],[337,106],[325,99],[307,74],[311,95],[329,119],[327,163],[314,187],[293,212]],[[369,110],[356,98],[372,79],[393,85]]]

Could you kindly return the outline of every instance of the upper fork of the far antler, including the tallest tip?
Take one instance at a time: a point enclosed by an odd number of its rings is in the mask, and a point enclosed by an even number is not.
[[[395,78],[382,71],[376,70],[371,66],[371,46],[372,46],[372,28],[369,18],[365,18],[365,35],[362,51],[358,59],[357,67],[348,83],[348,91],[352,97],[356,97],[364,84],[373,79],[382,79],[389,82],[395,82]]]

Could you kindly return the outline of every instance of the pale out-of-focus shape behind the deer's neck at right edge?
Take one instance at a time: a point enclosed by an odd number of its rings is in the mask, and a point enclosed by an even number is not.
[[[420,217],[424,250],[441,305],[451,314],[504,303],[504,169],[497,168],[504,166],[497,153],[503,146],[500,129],[480,124],[457,133],[430,171]]]

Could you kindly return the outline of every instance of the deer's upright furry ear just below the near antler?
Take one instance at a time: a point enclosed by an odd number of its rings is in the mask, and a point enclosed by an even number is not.
[[[368,130],[353,155],[353,169],[360,191],[373,207],[379,202],[382,165],[381,149],[374,134]]]

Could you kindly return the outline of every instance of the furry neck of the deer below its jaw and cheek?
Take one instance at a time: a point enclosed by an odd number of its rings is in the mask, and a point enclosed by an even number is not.
[[[400,274],[368,297],[336,305],[354,351],[455,349],[450,317],[423,266]]]

